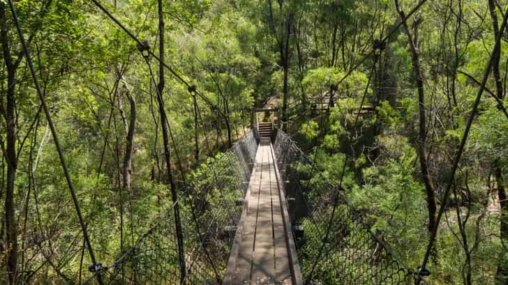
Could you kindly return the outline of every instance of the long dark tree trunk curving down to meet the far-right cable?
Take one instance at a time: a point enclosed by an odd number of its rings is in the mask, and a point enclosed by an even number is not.
[[[401,16],[401,20],[405,18],[405,14],[398,4],[398,0],[395,0],[395,5],[398,14]],[[408,42],[410,45],[410,54],[412,60],[412,67],[414,77],[416,79],[416,85],[418,89],[418,107],[419,107],[419,136],[416,144],[417,153],[420,161],[421,175],[425,184],[427,210],[428,210],[428,231],[433,231],[436,222],[436,201],[435,201],[435,187],[433,178],[428,169],[428,153],[426,151],[426,111],[425,111],[425,93],[424,93],[424,79],[421,73],[419,51],[418,51],[418,24],[419,19],[414,20],[414,37],[412,36],[408,24],[403,22],[403,30],[408,36]]]

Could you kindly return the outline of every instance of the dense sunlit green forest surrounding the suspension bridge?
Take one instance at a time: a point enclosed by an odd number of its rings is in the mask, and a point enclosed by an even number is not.
[[[0,0],[0,282],[81,283],[274,107],[403,263],[508,284],[507,8]]]

